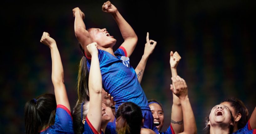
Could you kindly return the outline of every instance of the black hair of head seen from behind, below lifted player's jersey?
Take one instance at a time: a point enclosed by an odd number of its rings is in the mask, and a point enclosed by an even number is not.
[[[125,102],[118,107],[116,131],[118,134],[140,134],[143,126],[141,109],[133,102]]]

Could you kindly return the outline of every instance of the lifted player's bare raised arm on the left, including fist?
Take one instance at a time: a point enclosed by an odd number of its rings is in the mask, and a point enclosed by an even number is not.
[[[78,7],[74,8],[72,11],[75,17],[74,29],[75,29],[76,38],[78,39],[81,46],[83,47],[86,53],[86,56],[91,57],[91,54],[88,52],[86,48],[88,44],[92,43],[92,40],[89,32],[86,30],[86,27],[83,21],[85,15]]]

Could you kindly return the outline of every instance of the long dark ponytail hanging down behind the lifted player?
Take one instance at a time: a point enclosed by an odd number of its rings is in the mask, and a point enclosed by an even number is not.
[[[84,50],[81,44],[79,45],[79,47],[84,54]],[[77,77],[77,95],[78,95],[77,103],[89,101],[90,99],[88,80],[89,80],[89,71],[87,69],[87,60],[86,60],[86,57],[83,56],[79,64],[79,71],[78,71],[78,77]]]

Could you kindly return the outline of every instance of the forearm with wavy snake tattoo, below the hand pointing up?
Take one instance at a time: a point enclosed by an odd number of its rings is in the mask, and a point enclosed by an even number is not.
[[[143,55],[139,64],[138,64],[138,66],[135,68],[135,72],[137,74],[137,78],[138,78],[139,83],[142,80],[148,58],[149,58],[149,56],[144,56]]]

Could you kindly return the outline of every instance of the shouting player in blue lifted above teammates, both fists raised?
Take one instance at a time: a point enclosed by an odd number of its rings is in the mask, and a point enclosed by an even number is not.
[[[91,68],[91,54],[86,49],[86,46],[89,43],[96,42],[103,88],[106,92],[111,94],[116,102],[116,110],[123,102],[135,103],[141,108],[143,113],[143,128],[149,128],[158,133],[153,124],[153,116],[150,108],[148,107],[145,93],[142,90],[138,82],[137,75],[133,67],[130,66],[129,62],[129,57],[132,54],[138,40],[137,35],[133,31],[132,27],[118,12],[117,8],[111,4],[111,2],[105,2],[102,6],[102,10],[112,14],[119,26],[124,42],[117,51],[113,52],[112,47],[115,45],[116,39],[114,39],[113,36],[110,36],[106,28],[90,28],[86,30],[83,22],[84,13],[81,12],[79,8],[74,8],[73,14],[75,16],[75,34],[81,43],[81,47],[83,48],[86,56],[88,70]],[[151,43],[154,43],[154,41],[151,41]],[[78,90],[80,90],[80,88]],[[86,98],[86,96],[82,95],[78,95],[80,102],[83,100],[83,98]]]

